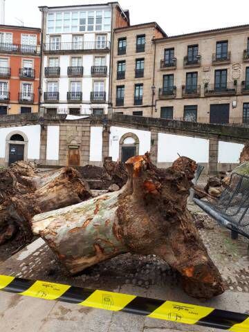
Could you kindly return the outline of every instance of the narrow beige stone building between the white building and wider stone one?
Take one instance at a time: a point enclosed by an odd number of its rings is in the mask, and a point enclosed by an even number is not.
[[[151,116],[154,103],[154,39],[167,37],[155,22],[116,28],[111,104],[116,113]]]

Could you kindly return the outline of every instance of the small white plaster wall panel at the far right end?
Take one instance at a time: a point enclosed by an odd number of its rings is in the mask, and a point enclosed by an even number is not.
[[[243,144],[219,141],[218,163],[239,163]]]

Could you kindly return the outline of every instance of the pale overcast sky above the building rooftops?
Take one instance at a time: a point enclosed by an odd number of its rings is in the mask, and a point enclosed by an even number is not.
[[[38,6],[107,3],[108,0],[6,0],[6,24],[39,27]],[[131,24],[156,21],[167,35],[249,24],[249,1],[236,0],[120,0],[129,9]]]

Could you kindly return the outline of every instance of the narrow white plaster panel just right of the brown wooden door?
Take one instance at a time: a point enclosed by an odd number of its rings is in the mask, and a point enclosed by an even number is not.
[[[102,130],[103,127],[91,127],[90,161],[102,161]]]

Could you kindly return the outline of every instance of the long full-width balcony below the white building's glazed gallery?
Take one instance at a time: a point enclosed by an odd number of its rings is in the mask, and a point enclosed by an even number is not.
[[[73,42],[73,43],[46,43],[43,46],[44,53],[108,53],[110,42]]]

